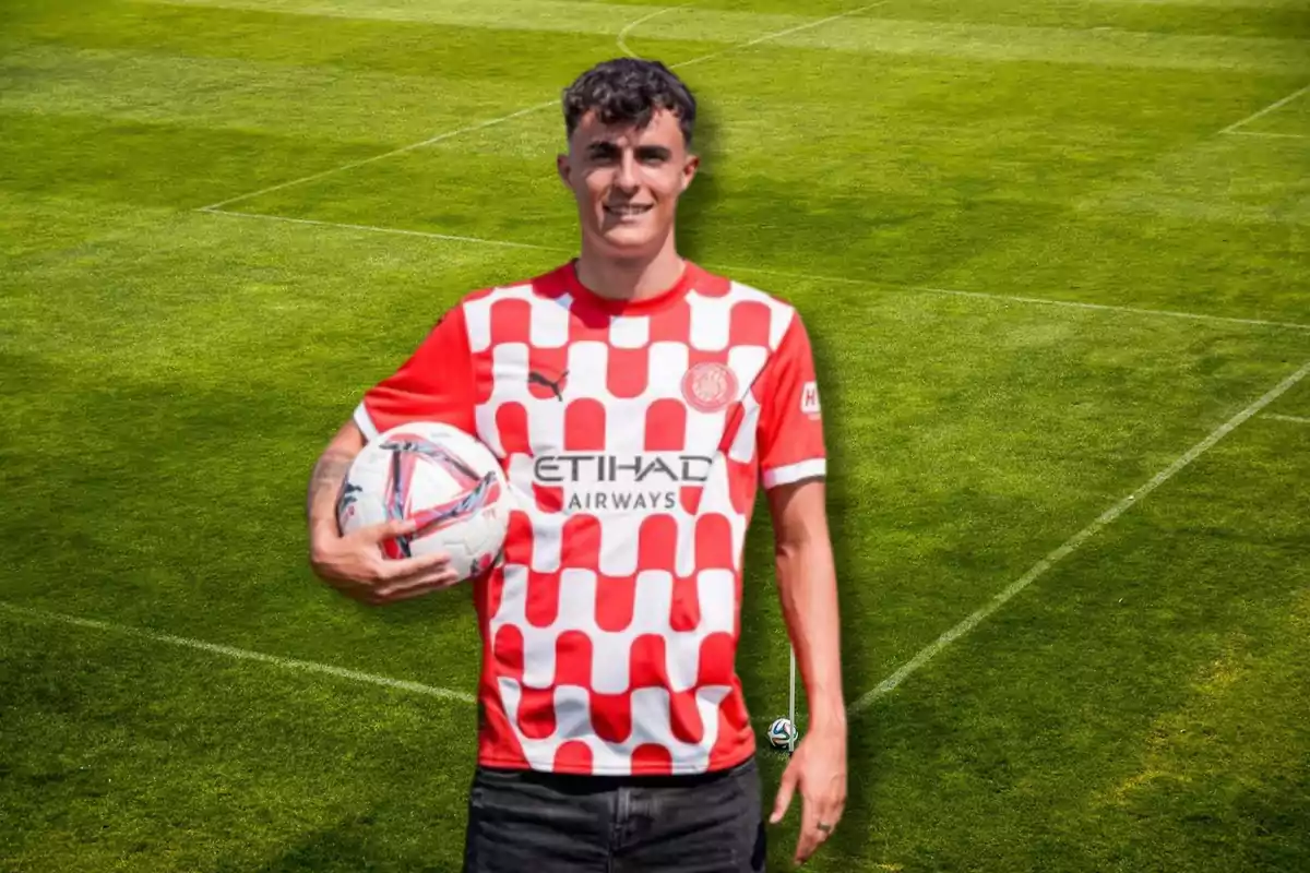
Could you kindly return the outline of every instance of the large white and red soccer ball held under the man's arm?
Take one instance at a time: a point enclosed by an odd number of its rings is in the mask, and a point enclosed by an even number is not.
[[[337,500],[342,535],[396,518],[418,529],[383,541],[386,558],[451,555],[451,568],[468,580],[494,564],[504,546],[510,487],[499,461],[458,428],[413,421],[368,441]]]

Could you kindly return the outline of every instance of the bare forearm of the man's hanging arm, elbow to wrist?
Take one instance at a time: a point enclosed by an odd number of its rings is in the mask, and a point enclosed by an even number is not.
[[[810,729],[846,729],[837,580],[827,525],[777,547],[778,593],[810,703]]]

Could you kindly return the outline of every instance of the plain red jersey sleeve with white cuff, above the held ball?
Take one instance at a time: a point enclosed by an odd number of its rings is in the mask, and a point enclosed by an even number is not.
[[[364,393],[355,424],[368,440],[409,421],[440,421],[473,433],[473,390],[464,308],[456,306],[396,373]]]

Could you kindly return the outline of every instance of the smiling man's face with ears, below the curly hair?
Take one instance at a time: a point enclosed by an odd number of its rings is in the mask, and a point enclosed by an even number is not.
[[[663,109],[643,128],[607,126],[587,113],[569,153],[557,158],[559,178],[578,199],[584,238],[614,257],[651,255],[664,245],[698,164],[677,116]]]

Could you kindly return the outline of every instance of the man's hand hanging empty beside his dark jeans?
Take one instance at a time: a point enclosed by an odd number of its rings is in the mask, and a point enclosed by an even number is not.
[[[782,774],[770,825],[787,814],[796,791],[800,792],[800,839],[794,860],[799,866],[832,835],[846,806],[845,732],[810,733],[800,741]]]

